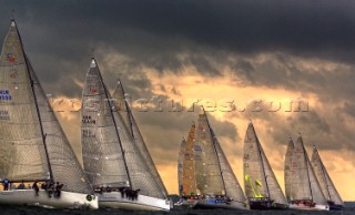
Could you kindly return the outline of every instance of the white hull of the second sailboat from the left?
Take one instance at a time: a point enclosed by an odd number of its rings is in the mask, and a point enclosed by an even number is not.
[[[138,199],[129,199],[121,196],[121,193],[98,194],[100,207],[112,207],[129,211],[170,211],[171,202],[145,195],[138,195]]]

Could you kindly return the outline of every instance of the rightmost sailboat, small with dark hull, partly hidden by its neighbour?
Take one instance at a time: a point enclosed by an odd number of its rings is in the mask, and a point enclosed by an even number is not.
[[[328,172],[326,171],[317,147],[314,145],[312,153],[312,166],[315,175],[320,182],[322,192],[327,199],[331,211],[344,209],[344,202],[339,193],[336,191],[334,183],[331,180]]]

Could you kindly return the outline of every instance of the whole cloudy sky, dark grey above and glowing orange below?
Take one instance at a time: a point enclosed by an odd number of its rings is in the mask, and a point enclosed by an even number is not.
[[[170,193],[176,160],[200,104],[242,181],[243,140],[252,119],[277,180],[288,135],[316,144],[344,199],[355,174],[355,2],[250,0],[0,0],[0,39],[14,9],[34,70],[80,156],[80,98],[90,57],[106,85],[120,76],[133,101],[183,101],[182,112],[134,115]],[[307,102],[301,112],[290,102]],[[71,101],[70,101],[71,100]],[[273,101],[273,105],[271,102]],[[212,102],[212,103],[211,103]],[[290,111],[291,110],[291,111]],[[212,109],[210,109],[212,111]],[[74,129],[73,129],[74,127]]]

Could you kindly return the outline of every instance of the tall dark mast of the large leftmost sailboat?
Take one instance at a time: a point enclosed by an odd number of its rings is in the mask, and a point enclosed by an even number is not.
[[[17,23],[16,23],[14,19],[11,19],[11,22],[14,24],[14,29],[16,29],[16,31],[17,31],[17,33],[18,33],[18,37],[19,37],[19,40],[20,40],[20,44],[21,44],[20,47],[21,47],[21,50],[22,50],[22,53],[23,53],[24,63],[26,63],[26,66],[27,66],[27,72],[28,72],[28,75],[29,75],[29,79],[30,79],[30,82],[31,82],[30,85],[31,85],[31,91],[32,91],[33,99],[34,99],[37,116],[38,116],[39,124],[40,124],[41,136],[42,136],[43,146],[44,146],[44,151],[45,151],[45,160],[47,160],[47,163],[48,163],[48,170],[49,170],[49,174],[50,174],[50,180],[54,180],[54,178],[53,178],[52,166],[51,166],[51,162],[50,162],[49,153],[48,153],[48,149],[47,149],[47,142],[45,142],[45,136],[47,136],[47,134],[44,134],[44,132],[43,132],[43,125],[42,125],[41,114],[40,114],[40,110],[39,110],[39,108],[38,108],[37,95],[36,95],[34,89],[33,89],[33,85],[34,85],[36,83],[33,82],[33,80],[32,80],[32,78],[31,78],[30,70],[29,70],[29,68],[32,69],[32,66],[31,66],[31,64],[29,63],[28,58],[27,58],[27,54],[26,54],[26,52],[24,52],[22,39],[21,39],[20,32],[19,32],[19,30],[18,30],[18,27],[17,27]],[[37,83],[37,84],[38,84],[38,83]]]

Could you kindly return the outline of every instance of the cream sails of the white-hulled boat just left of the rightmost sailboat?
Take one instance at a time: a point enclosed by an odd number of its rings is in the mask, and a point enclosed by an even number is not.
[[[292,191],[291,199],[308,199],[320,205],[327,205],[301,135],[293,151],[291,172],[292,183],[288,184],[291,187],[286,187],[286,190]]]

